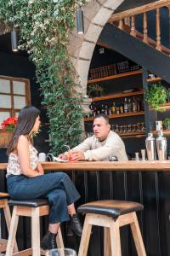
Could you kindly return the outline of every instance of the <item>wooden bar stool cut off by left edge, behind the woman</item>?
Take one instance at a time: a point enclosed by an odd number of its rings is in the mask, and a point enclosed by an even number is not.
[[[3,209],[5,221],[7,224],[7,229],[9,230],[9,225],[11,222],[11,214],[8,207],[8,194],[0,192],[0,209]],[[7,247],[6,239],[0,239],[0,252],[5,252]],[[18,247],[16,242],[14,243],[14,252],[18,252]]]

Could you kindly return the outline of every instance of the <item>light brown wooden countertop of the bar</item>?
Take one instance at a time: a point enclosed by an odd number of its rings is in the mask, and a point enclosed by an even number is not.
[[[170,160],[165,161],[84,161],[84,162],[42,162],[45,171],[170,171]],[[6,163],[0,164],[0,171]]]

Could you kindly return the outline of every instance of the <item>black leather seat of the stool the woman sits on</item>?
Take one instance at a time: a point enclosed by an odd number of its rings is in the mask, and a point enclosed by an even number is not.
[[[8,201],[9,206],[19,206],[19,207],[42,207],[48,205],[47,199],[27,199],[27,200],[9,200]]]

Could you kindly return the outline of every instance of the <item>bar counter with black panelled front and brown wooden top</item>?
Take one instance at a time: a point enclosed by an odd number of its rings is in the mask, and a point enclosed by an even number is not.
[[[1,191],[5,191],[5,172],[7,164],[0,164]],[[128,161],[128,162],[77,162],[42,163],[46,172],[66,172],[75,183],[81,199],[77,206],[88,201],[117,199],[139,201],[144,212],[138,212],[139,224],[144,237],[147,255],[170,255],[170,161]],[[42,232],[47,221],[42,219]],[[30,244],[28,220],[20,222],[18,241],[20,247]],[[65,246],[78,248],[79,241],[67,236],[63,227]],[[4,233],[4,230],[3,230]],[[94,228],[90,241],[90,256],[103,255],[103,232]],[[122,256],[137,255],[128,228],[122,228]]]

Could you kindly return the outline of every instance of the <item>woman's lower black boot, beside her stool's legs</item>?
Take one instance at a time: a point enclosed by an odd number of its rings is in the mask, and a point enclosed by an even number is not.
[[[42,249],[51,250],[57,248],[56,236],[57,234],[48,231],[47,234],[42,238]]]

